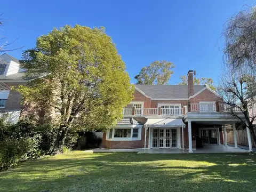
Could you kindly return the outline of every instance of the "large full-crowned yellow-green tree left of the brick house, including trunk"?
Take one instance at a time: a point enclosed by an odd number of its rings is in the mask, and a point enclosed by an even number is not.
[[[34,79],[19,86],[23,100],[57,112],[53,154],[61,151],[70,129],[107,129],[115,124],[133,98],[125,63],[103,28],[53,29],[23,53],[22,63],[25,78]]]

